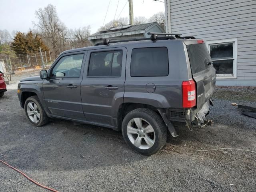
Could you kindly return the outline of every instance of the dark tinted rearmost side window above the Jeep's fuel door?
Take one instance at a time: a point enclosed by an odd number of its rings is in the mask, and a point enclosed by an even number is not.
[[[167,76],[169,74],[166,47],[136,48],[132,50],[131,76]]]

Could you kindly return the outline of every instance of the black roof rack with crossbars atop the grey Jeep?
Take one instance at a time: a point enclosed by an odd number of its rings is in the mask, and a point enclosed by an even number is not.
[[[138,38],[138,37],[110,37],[110,38],[100,38],[103,39],[102,43],[97,43],[97,45],[108,45],[110,43],[118,43],[118,42],[131,42],[131,41],[141,41],[141,40],[167,40],[167,39],[195,39],[193,36],[185,36],[180,37],[182,34],[172,34],[172,33],[158,33],[158,32],[148,32],[148,35],[151,35],[150,38]],[[158,37],[157,35],[168,35],[164,37]],[[111,41],[111,40],[119,40],[119,41]]]

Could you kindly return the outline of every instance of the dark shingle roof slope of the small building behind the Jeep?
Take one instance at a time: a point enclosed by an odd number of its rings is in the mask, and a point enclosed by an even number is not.
[[[145,30],[146,28],[148,28],[149,26],[156,24],[156,22],[152,22],[152,23],[145,23],[145,24],[140,24],[140,25],[132,25],[128,28],[125,29],[121,29],[118,31],[110,31],[110,32],[96,32],[92,35],[90,35],[90,37],[92,36],[100,36],[100,35],[109,35],[109,34],[116,34],[116,33],[125,33],[125,32],[132,32],[132,31],[140,31],[140,30]]]

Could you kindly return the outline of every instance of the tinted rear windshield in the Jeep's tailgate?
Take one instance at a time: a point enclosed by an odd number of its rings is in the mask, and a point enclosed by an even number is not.
[[[200,43],[187,45],[187,50],[192,74],[208,68],[208,63],[211,62],[211,57],[206,44]]]

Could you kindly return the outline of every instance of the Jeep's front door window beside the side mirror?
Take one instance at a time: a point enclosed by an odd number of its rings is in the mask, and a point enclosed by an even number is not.
[[[84,54],[62,57],[52,69],[53,77],[80,77]]]

